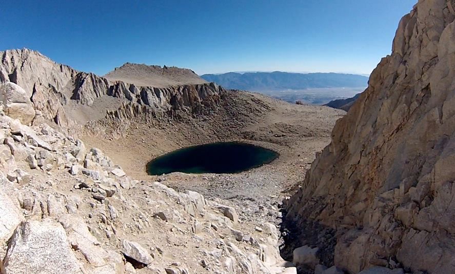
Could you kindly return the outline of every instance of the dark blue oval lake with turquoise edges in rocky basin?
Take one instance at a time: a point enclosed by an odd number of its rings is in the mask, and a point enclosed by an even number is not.
[[[172,151],[147,164],[147,173],[239,173],[278,158],[273,150],[238,142],[212,143]]]

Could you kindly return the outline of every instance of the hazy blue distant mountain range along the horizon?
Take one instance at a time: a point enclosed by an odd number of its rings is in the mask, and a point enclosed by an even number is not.
[[[251,91],[366,87],[368,77],[343,73],[290,73],[290,72],[228,72],[223,74],[204,74],[202,79],[215,82],[228,89]]]

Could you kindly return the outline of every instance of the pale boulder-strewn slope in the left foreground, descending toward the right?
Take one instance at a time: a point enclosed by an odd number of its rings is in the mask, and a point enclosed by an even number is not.
[[[0,111],[2,273],[295,273],[275,225],[19,119]]]

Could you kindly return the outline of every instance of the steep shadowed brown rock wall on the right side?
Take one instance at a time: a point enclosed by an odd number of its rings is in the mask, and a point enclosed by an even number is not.
[[[455,273],[454,8],[420,0],[401,19],[391,55],[287,203],[288,219],[338,230],[334,264],[350,273]]]

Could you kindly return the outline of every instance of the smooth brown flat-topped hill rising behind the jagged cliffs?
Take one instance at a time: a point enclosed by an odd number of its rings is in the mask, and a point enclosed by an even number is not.
[[[123,66],[115,68],[104,77],[110,81],[159,88],[207,83],[190,69],[131,63],[125,63]]]

